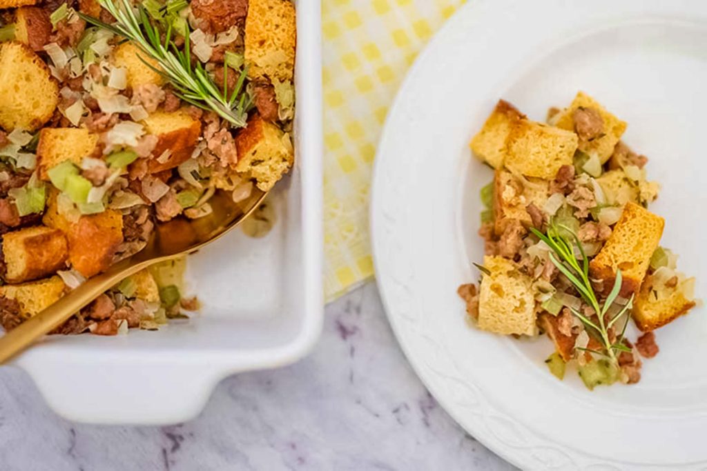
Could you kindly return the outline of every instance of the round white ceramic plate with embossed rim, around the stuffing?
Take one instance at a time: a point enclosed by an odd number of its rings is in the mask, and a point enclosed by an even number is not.
[[[390,322],[433,395],[462,427],[527,469],[707,466],[707,318],[657,331],[635,386],[586,390],[543,359],[547,338],[469,328],[456,289],[482,258],[479,189],[489,169],[467,143],[498,98],[544,119],[577,90],[628,121],[629,145],[663,186],[662,244],[706,292],[707,3],[473,0],[419,57],[376,159],[373,249]],[[573,376],[573,375],[568,375]]]

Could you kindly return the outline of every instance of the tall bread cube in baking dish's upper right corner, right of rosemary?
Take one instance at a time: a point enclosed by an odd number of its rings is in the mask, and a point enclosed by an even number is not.
[[[248,75],[291,81],[295,71],[297,27],[291,1],[250,0],[245,18]]]

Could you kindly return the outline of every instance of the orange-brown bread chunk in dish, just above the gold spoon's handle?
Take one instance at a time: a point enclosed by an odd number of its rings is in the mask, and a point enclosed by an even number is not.
[[[60,229],[69,242],[69,263],[90,278],[110,267],[123,242],[123,216],[117,210],[83,215],[74,222],[59,213],[56,194],[49,196],[42,222]]]

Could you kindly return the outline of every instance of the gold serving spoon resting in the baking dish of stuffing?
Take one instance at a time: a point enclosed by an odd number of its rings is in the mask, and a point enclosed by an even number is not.
[[[213,213],[189,220],[178,217],[158,223],[144,249],[119,261],[104,273],[90,278],[66,296],[0,337],[0,364],[60,326],[105,290],[124,278],[161,261],[191,254],[214,242],[243,222],[262,203],[267,193],[255,189],[245,201],[234,203],[230,192],[216,191],[209,200]]]

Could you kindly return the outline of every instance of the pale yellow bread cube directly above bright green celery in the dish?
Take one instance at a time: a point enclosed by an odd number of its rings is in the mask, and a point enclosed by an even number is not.
[[[83,157],[93,153],[98,134],[85,128],[45,128],[37,145],[37,169],[42,180],[49,181],[49,169],[69,160],[81,165]]]

